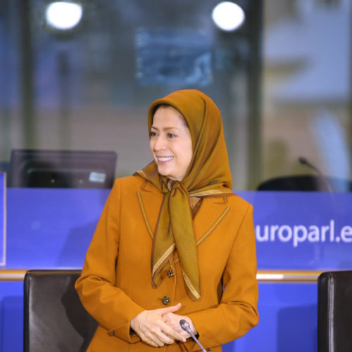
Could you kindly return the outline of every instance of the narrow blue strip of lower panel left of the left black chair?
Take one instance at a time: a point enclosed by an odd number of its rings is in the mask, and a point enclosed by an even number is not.
[[[0,352],[23,352],[23,282],[0,282]]]

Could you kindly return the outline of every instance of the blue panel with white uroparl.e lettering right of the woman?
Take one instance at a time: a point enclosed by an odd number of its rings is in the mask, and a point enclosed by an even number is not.
[[[352,267],[352,193],[245,191],[259,269]]]

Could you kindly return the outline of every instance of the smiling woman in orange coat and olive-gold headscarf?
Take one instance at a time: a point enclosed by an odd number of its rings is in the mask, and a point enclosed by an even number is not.
[[[252,206],[233,194],[220,112],[189,89],[154,101],[154,161],[115,181],[76,289],[88,351],[208,351],[258,323]]]

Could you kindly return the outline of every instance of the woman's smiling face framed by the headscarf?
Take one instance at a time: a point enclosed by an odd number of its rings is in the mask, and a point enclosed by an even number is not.
[[[191,133],[180,111],[172,106],[160,106],[156,110],[150,146],[159,174],[170,180],[182,181],[193,151]]]

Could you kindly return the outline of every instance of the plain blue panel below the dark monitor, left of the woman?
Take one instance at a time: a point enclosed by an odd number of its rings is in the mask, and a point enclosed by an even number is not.
[[[7,268],[82,268],[109,190],[8,189]]]

